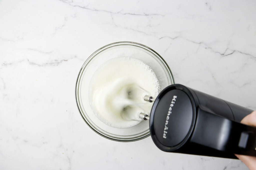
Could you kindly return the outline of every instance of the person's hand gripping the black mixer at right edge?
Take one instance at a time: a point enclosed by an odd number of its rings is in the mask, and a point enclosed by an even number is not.
[[[251,114],[245,116],[241,123],[255,126],[256,127],[256,111],[253,111]],[[235,154],[238,159],[240,159],[250,170],[256,170],[256,157],[247,156],[247,155],[238,155]]]

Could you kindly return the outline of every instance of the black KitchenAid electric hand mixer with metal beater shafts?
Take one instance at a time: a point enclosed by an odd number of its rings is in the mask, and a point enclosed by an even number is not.
[[[233,158],[256,156],[256,127],[239,123],[252,110],[180,84],[166,87],[153,102],[150,134],[167,152]],[[150,117],[150,118],[149,118]]]

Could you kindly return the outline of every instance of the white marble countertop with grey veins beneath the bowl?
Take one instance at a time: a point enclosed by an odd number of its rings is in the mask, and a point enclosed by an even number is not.
[[[133,41],[157,51],[176,83],[256,109],[255,9],[254,0],[0,0],[0,169],[246,169],[166,153],[150,137],[107,140],[84,123],[74,91],[91,53]]]

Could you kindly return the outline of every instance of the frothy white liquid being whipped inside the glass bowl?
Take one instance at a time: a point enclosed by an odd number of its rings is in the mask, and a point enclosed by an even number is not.
[[[149,114],[153,104],[143,97],[155,98],[158,93],[159,82],[154,71],[133,57],[108,60],[95,71],[89,85],[94,113],[105,124],[117,128],[140,123],[139,113]]]

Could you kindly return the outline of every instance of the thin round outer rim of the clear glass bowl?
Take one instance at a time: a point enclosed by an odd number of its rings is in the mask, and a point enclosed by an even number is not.
[[[130,141],[137,141],[137,140],[141,140],[141,139],[144,139],[148,136],[150,136],[150,130],[149,130],[149,127],[146,131],[144,131],[144,133],[142,135],[135,135],[135,136],[132,136],[132,137],[126,137],[126,138],[119,138],[119,137],[113,137],[113,136],[109,136],[107,134],[104,134],[102,132],[100,132],[96,127],[94,127],[89,120],[87,120],[87,118],[85,117],[85,115],[83,114],[83,111],[81,109],[81,104],[80,104],[80,101],[79,101],[79,84],[80,84],[80,80],[81,80],[81,76],[82,76],[82,73],[83,71],[85,70],[86,66],[90,63],[90,61],[95,57],[97,56],[99,53],[105,51],[106,49],[109,49],[109,48],[112,48],[112,47],[115,47],[115,46],[120,46],[120,45],[131,45],[131,46],[136,46],[136,47],[139,47],[139,48],[143,48],[149,52],[151,52],[154,56],[156,56],[157,58],[159,58],[162,62],[162,64],[164,65],[164,67],[166,68],[167,70],[167,73],[166,75],[168,76],[169,80],[171,81],[170,83],[171,84],[175,84],[175,81],[174,81],[174,77],[173,77],[173,74],[172,74],[172,71],[170,70],[168,64],[165,62],[165,60],[156,52],[154,51],[153,49],[143,45],[143,44],[140,44],[140,43],[135,43],[135,42],[130,42],[130,41],[121,41],[121,42],[114,42],[114,43],[111,43],[111,44],[108,44],[108,45],[105,45],[101,48],[99,48],[98,50],[96,50],[94,53],[92,53],[88,58],[87,60],[83,63],[79,73],[78,73],[78,76],[77,76],[77,81],[76,81],[76,89],[75,89],[75,95],[76,95],[76,103],[77,103],[77,107],[78,107],[78,110],[79,110],[79,113],[80,115],[82,116],[83,120],[85,121],[85,123],[94,131],[96,132],[97,134],[99,134],[100,136],[104,137],[104,138],[107,138],[107,139],[110,139],[110,140],[114,140],[114,141],[120,141],[120,142],[130,142]],[[165,71],[166,71],[165,70]],[[118,136],[118,135],[117,135]]]

